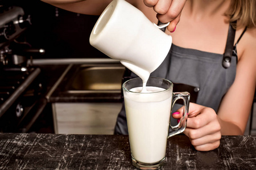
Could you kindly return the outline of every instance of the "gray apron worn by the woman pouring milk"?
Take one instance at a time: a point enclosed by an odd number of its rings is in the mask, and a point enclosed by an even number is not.
[[[232,42],[232,48],[235,50],[236,45],[233,47]],[[188,91],[191,94],[191,102],[213,108],[217,113],[222,97],[232,86],[236,76],[236,51],[231,55],[228,69],[222,66],[223,60],[224,54],[181,48],[172,44],[162,65],[150,76],[170,80],[174,83],[174,92]],[[131,73],[130,78],[135,77],[138,76]],[[175,104],[172,112],[180,107],[182,107],[181,104]],[[175,123],[176,120],[171,120],[172,125]],[[114,133],[128,134],[124,103],[118,114]]]

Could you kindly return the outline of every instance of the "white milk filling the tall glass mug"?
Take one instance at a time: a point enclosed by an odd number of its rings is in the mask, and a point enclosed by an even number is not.
[[[148,92],[164,91],[159,87],[146,88]],[[130,91],[141,90],[142,87],[135,87]],[[124,95],[131,154],[139,162],[159,162],[166,156],[172,93]]]

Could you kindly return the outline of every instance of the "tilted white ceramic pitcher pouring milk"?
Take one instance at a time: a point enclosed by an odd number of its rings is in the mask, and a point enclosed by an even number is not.
[[[143,79],[166,58],[172,37],[125,0],[114,0],[102,12],[90,35],[90,44]]]

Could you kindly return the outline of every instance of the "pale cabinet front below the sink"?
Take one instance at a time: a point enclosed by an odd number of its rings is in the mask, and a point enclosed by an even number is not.
[[[114,134],[122,103],[53,103],[56,134]]]

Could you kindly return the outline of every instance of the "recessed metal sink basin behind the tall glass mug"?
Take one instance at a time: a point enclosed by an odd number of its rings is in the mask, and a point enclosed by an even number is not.
[[[122,65],[80,65],[73,74],[68,93],[121,92]]]

